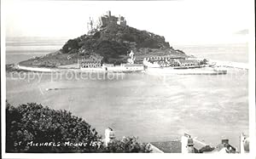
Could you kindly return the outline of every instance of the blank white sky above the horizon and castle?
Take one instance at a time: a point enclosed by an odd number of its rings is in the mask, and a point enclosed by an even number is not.
[[[6,37],[79,37],[89,17],[111,10],[127,25],[166,37],[172,44],[244,43],[250,28],[251,0],[176,1],[9,1]]]

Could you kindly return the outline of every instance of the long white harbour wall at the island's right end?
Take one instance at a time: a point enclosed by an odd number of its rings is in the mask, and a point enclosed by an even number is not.
[[[185,69],[175,69],[172,67],[162,67],[162,68],[148,68],[146,73],[152,75],[222,75],[227,74],[227,70],[220,67],[202,67],[202,68],[185,68]]]

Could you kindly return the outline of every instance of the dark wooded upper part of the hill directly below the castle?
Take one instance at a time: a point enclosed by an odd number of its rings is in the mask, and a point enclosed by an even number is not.
[[[77,43],[74,43],[74,41]],[[184,55],[182,51],[171,48],[165,37],[160,37],[148,31],[139,31],[130,26],[116,24],[101,28],[93,35],[84,35],[69,40],[61,51],[63,54],[71,54],[75,50],[78,54],[85,56],[96,53],[103,57],[104,62],[109,62],[110,59],[122,59],[131,49],[136,55],[150,54],[149,51],[148,53],[141,51],[142,48],[158,49],[163,53]]]

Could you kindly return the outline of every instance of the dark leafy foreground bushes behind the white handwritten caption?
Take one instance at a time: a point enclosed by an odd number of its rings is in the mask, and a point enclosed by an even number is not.
[[[6,152],[149,152],[136,138],[102,143],[90,124],[68,111],[29,103],[6,106]]]

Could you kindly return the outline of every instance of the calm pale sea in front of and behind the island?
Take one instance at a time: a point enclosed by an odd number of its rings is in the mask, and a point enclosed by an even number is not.
[[[65,41],[8,42],[6,60],[14,63],[47,54]],[[214,60],[247,62],[247,44],[178,49]],[[56,79],[44,74],[40,82],[7,75],[6,87],[9,103],[37,102],[72,111],[102,135],[111,127],[117,138],[134,135],[142,142],[153,142],[180,139],[189,133],[212,146],[227,138],[238,147],[239,135],[248,133],[247,75],[247,71],[235,69],[221,76],[128,73],[115,74],[114,79],[106,74],[100,74],[101,79],[96,79],[96,74],[90,79],[70,79],[71,74]]]

